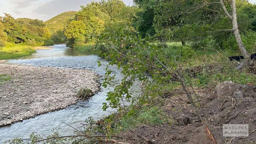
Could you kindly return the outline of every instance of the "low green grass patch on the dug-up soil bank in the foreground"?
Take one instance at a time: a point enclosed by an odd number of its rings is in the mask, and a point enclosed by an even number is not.
[[[148,109],[146,106],[138,108],[131,105],[129,109],[123,109],[105,118],[100,131],[103,133],[119,133],[138,125],[162,124],[167,121],[172,120],[168,119],[166,114],[157,106]]]

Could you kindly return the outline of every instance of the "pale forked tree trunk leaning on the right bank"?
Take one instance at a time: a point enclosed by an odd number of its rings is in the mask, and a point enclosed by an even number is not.
[[[222,9],[224,10],[225,14],[229,17],[229,19],[232,21],[233,25],[233,33],[235,35],[236,43],[239,47],[240,52],[245,58],[249,58],[249,53],[244,47],[244,44],[242,42],[239,29],[238,29],[238,24],[237,24],[237,17],[236,17],[236,6],[235,6],[235,0],[231,0],[231,14],[229,14],[228,10],[226,9],[223,0],[220,0],[220,3],[222,5]]]

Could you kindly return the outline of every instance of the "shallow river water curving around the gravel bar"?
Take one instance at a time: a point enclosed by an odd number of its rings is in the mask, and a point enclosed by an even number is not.
[[[101,67],[98,67],[97,61],[101,61]],[[94,70],[96,73],[104,76],[106,70],[105,65],[108,63],[105,59],[95,55],[84,55],[70,50],[65,45],[55,45],[53,49],[38,50],[32,56],[23,57],[17,60],[10,60],[9,63],[21,63],[33,66],[52,66],[58,68],[80,69],[86,68]],[[113,65],[112,73],[116,75],[117,80],[121,80],[123,75],[121,69]],[[57,87],[57,86],[56,86]],[[28,138],[34,132],[40,136],[46,136],[56,130],[60,135],[73,134],[74,129],[65,123],[76,127],[81,126],[84,120],[89,116],[95,120],[101,119],[108,115],[111,111],[102,111],[102,103],[106,100],[107,92],[113,90],[114,87],[101,87],[101,92],[95,94],[91,99],[71,105],[60,111],[54,111],[47,114],[24,120],[23,122],[12,124],[9,127],[0,128],[0,143],[5,140],[16,137]],[[135,82],[130,89],[130,93],[137,96],[140,93],[140,83]]]

